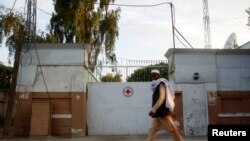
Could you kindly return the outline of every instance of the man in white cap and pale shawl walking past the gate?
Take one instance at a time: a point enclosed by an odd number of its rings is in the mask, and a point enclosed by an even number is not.
[[[149,115],[152,117],[151,127],[147,141],[155,141],[158,131],[168,131],[175,141],[183,141],[182,136],[174,125],[174,89],[167,79],[160,78],[159,70],[151,71],[152,109]]]

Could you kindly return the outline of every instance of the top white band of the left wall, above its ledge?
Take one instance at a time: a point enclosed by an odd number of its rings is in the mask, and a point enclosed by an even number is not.
[[[84,47],[82,44],[29,44],[23,46],[21,56],[24,66],[37,65],[39,61],[41,65],[83,65]]]

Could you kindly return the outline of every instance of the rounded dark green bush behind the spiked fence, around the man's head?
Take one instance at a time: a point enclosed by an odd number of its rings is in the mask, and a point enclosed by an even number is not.
[[[137,69],[130,76],[127,77],[128,82],[140,82],[140,81],[151,81],[150,72],[152,69],[158,69],[162,77],[168,79],[168,64],[159,63],[155,65],[146,66],[140,69]]]

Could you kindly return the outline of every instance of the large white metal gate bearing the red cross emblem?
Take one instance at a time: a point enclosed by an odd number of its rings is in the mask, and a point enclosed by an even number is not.
[[[133,95],[125,97],[125,87]],[[89,135],[148,134],[152,104],[150,82],[88,83],[87,125]]]

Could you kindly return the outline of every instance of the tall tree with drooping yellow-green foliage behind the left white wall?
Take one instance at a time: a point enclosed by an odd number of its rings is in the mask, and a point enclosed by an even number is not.
[[[91,71],[102,50],[111,63],[116,62],[114,49],[120,8],[109,10],[109,4],[115,0],[53,1],[55,13],[50,20],[51,33],[61,43],[83,43]]]

